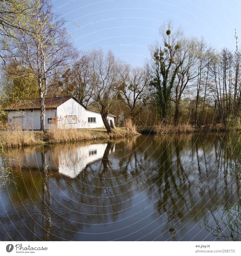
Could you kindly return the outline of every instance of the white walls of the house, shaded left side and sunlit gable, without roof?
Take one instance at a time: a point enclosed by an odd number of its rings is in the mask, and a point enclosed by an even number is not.
[[[76,115],[76,123],[67,123],[67,115]],[[101,115],[96,112],[89,111],[80,105],[74,99],[69,99],[57,109],[46,109],[45,126],[49,130],[52,124],[48,123],[49,118],[58,117],[59,128],[100,128],[104,127]],[[88,123],[88,117],[95,117],[95,123]],[[114,117],[108,116],[114,123]],[[26,110],[26,111],[10,111],[8,112],[8,123],[11,128],[14,128],[13,123],[18,122],[23,129],[26,130],[40,130],[40,110]]]

